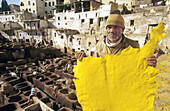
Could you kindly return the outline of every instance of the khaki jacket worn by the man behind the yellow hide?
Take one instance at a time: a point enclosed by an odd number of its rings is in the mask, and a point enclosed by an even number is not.
[[[126,37],[124,37],[123,35],[123,39],[121,41],[121,43],[116,46],[116,47],[108,47],[105,44],[105,39],[101,39],[99,40],[99,42],[97,43],[96,47],[95,47],[95,52],[94,52],[94,57],[103,57],[106,54],[109,55],[114,55],[117,54],[118,52],[121,52],[123,49],[127,48],[128,46],[131,46],[133,48],[139,48],[139,44],[138,42],[128,39]]]

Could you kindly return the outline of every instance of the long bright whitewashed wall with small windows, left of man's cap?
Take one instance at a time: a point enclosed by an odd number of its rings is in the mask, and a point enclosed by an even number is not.
[[[103,24],[102,22],[106,21],[105,17],[107,17],[110,13],[111,7],[112,9],[115,5],[103,5],[101,9],[94,11],[87,11],[81,13],[74,12],[66,12],[66,13],[56,13],[55,14],[55,22],[54,25],[57,28],[66,28],[66,29],[76,29],[78,31],[88,31],[92,26],[99,30],[102,30]],[[99,26],[99,18],[103,21],[100,21],[102,25]],[[91,21],[91,22],[90,22]]]

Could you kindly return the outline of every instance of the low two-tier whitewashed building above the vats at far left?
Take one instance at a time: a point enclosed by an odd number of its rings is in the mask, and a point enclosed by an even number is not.
[[[23,20],[23,29],[17,31],[17,41],[39,43],[47,39],[47,21],[34,19]]]

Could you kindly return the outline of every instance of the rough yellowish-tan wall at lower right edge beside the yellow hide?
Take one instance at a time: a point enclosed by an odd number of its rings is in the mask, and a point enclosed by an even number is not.
[[[160,74],[156,78],[159,84],[157,89],[154,111],[170,111],[170,54],[158,58],[157,68]]]

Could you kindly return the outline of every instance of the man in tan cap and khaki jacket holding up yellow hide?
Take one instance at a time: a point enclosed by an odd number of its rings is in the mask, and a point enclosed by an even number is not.
[[[139,44],[131,39],[126,38],[123,35],[125,29],[124,19],[120,15],[120,11],[113,11],[106,21],[107,37],[100,40],[96,45],[94,56],[103,57],[107,54],[117,54],[129,45],[133,48],[139,48]],[[76,53],[75,57],[79,61],[82,61],[86,54],[81,51]],[[155,56],[148,56],[146,62],[153,67],[156,67],[157,60]]]

